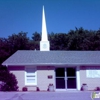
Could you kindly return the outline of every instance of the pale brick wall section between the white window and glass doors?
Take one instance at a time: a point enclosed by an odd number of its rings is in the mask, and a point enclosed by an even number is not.
[[[48,85],[55,85],[55,73],[53,66],[37,67],[37,86],[41,91],[47,90]]]

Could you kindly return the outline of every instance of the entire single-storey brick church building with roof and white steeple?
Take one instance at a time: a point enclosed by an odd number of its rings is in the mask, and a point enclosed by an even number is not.
[[[16,76],[19,90],[47,91],[49,84],[54,91],[99,87],[100,51],[50,50],[44,7],[42,14],[40,50],[18,50],[2,63]]]

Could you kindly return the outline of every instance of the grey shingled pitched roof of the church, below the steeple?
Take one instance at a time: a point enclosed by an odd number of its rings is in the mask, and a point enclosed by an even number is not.
[[[18,50],[2,65],[100,65],[100,51]]]

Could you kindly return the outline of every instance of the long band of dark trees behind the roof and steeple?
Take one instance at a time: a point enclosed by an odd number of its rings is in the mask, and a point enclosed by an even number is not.
[[[49,33],[50,50],[100,50],[100,29],[85,30],[82,27],[68,33]],[[27,32],[0,38],[0,64],[17,50],[39,50],[41,33],[34,32],[32,39]]]

